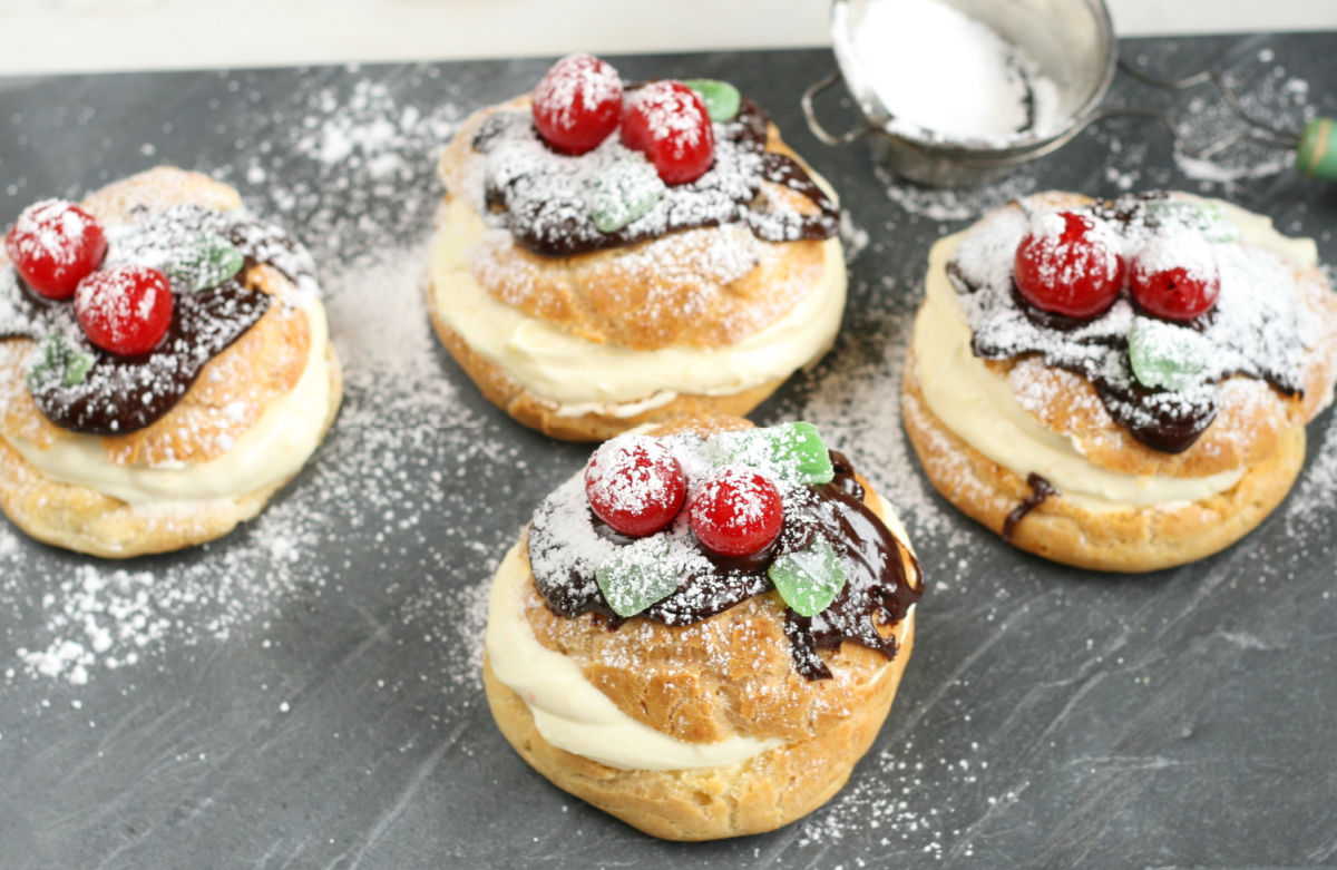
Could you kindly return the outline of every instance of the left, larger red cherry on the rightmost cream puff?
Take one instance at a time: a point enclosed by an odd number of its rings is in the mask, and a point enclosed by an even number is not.
[[[1091,318],[1119,298],[1124,262],[1107,225],[1075,211],[1044,214],[1016,249],[1021,298],[1044,311]]]

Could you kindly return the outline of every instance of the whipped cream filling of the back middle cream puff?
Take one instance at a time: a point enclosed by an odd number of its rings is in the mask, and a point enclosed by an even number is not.
[[[631,350],[586,341],[492,297],[469,270],[469,249],[487,230],[463,196],[445,207],[432,251],[436,311],[464,342],[562,416],[634,417],[679,393],[727,396],[789,377],[836,341],[845,309],[838,238],[822,242],[818,286],[785,317],[725,347]]]

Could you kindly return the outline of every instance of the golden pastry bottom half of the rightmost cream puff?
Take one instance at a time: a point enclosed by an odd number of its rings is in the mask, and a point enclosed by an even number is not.
[[[933,486],[963,513],[1003,533],[1029,494],[1024,477],[959,438],[929,409],[913,350],[901,388],[905,432]],[[1210,556],[1253,531],[1281,504],[1305,461],[1305,429],[1278,437],[1271,456],[1250,465],[1231,489],[1199,501],[1091,511],[1051,496],[1008,539],[1054,561],[1096,571],[1143,572]]]

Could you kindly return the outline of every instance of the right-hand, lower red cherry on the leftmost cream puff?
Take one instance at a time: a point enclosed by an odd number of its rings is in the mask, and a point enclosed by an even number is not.
[[[123,357],[156,347],[172,307],[167,275],[147,266],[102,269],[75,290],[75,317],[88,341]]]

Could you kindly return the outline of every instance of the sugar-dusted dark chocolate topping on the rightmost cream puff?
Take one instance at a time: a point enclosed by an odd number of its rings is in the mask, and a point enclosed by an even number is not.
[[[1124,294],[1090,321],[1031,306],[1016,290],[1012,258],[1028,229],[1025,206],[972,229],[947,266],[973,331],[975,355],[1012,359],[1039,354],[1046,365],[1091,382],[1106,410],[1134,438],[1163,453],[1181,453],[1217,416],[1219,384],[1231,376],[1266,381],[1286,396],[1301,393],[1301,334],[1294,265],[1262,249],[1234,243],[1237,230],[1194,200],[1163,192],[1099,202],[1088,211],[1111,222],[1124,257],[1159,233],[1207,233],[1221,274],[1217,306],[1189,323],[1207,342],[1203,369],[1178,390],[1151,389],[1134,377],[1128,333],[1138,310]],[[1078,210],[1080,211],[1080,210]]]

